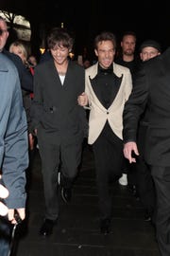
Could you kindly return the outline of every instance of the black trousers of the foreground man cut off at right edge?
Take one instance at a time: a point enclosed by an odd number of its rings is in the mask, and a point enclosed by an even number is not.
[[[170,255],[170,166],[151,167],[156,188],[156,232],[161,256]]]

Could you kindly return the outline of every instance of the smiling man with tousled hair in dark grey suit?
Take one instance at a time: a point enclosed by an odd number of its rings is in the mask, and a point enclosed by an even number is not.
[[[47,44],[52,58],[35,67],[31,110],[42,159],[45,214],[40,233],[43,236],[52,233],[59,218],[58,172],[62,198],[69,202],[83,138],[87,135],[86,112],[77,104],[77,97],[85,87],[85,70],[68,58],[73,39],[65,29],[54,27]]]

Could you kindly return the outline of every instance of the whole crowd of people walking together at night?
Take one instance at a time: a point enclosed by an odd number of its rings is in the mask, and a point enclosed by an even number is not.
[[[7,50],[7,40],[7,23],[0,17],[0,255],[8,255],[14,210],[26,218],[26,171],[36,143],[45,202],[39,232],[48,237],[59,222],[59,192],[64,202],[72,200],[87,138],[100,232],[110,233],[110,186],[119,182],[141,200],[161,256],[169,256],[170,49],[162,52],[159,42],[146,39],[137,50],[136,34],[127,31],[117,53],[116,36],[102,31],[94,38],[95,63],[78,64],[69,58],[74,46],[69,31],[53,27],[38,62],[24,42]]]

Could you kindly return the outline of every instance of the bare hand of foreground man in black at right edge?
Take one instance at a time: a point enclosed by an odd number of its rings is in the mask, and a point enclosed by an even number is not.
[[[132,156],[133,153],[139,155],[136,142],[127,142],[124,145],[124,156],[128,159],[129,163],[136,162],[136,158]]]

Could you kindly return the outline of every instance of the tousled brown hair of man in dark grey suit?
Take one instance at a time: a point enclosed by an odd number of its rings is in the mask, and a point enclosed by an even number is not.
[[[68,33],[65,28],[53,27],[47,36],[47,46],[49,49],[54,48],[54,46],[64,46],[67,48],[72,48],[74,45],[74,39]]]

